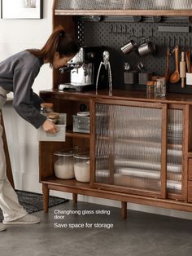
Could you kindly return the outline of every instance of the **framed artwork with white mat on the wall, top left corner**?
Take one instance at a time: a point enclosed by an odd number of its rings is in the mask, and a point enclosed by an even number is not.
[[[2,19],[42,19],[43,0],[1,0]]]

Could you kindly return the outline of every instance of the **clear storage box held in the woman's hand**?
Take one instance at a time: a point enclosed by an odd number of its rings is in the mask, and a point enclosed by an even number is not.
[[[65,141],[67,114],[59,113],[59,124],[56,125],[58,132],[49,134],[40,127],[37,131],[37,138],[39,141]]]

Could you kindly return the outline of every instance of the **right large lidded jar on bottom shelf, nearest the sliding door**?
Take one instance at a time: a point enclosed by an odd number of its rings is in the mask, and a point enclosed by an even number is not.
[[[89,153],[74,154],[74,172],[77,181],[88,183],[90,180]]]

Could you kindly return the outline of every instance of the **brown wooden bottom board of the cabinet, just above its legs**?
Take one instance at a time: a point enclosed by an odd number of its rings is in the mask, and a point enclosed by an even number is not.
[[[192,212],[192,203],[92,188],[89,183],[77,182],[76,179],[56,179],[55,177],[50,177],[49,179],[41,180],[41,183],[46,185],[49,190]]]

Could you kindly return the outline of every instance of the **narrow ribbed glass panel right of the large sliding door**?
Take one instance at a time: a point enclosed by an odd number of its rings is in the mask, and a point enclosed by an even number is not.
[[[182,110],[168,109],[168,192],[182,190]]]

